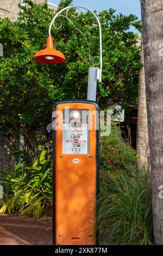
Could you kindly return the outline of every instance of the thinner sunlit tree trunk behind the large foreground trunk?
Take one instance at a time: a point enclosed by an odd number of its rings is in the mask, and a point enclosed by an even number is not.
[[[144,65],[143,58],[143,43],[141,40],[141,63]],[[137,112],[137,135],[136,135],[136,150],[139,154],[137,167],[143,170],[149,170],[149,140],[148,140],[148,121],[147,121],[147,105],[146,105],[146,82],[145,68],[140,69],[139,75],[139,102]]]

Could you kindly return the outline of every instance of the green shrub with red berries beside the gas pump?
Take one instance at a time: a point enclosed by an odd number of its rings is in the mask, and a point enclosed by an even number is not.
[[[136,170],[135,162],[137,155],[134,148],[130,147],[126,141],[120,138],[114,122],[111,124],[111,134],[109,136],[101,136],[101,145],[99,180],[102,191],[108,187],[111,174],[118,173],[122,170],[130,175],[132,171]]]

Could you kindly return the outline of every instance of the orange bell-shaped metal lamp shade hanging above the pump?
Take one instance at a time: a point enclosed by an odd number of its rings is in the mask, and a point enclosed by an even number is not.
[[[54,50],[53,38],[50,36],[47,38],[46,48],[37,51],[33,60],[41,63],[64,63],[66,61],[62,52]]]

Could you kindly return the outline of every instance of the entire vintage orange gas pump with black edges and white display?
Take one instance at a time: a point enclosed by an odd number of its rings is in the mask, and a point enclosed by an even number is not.
[[[53,107],[55,245],[96,245],[98,114],[90,100],[63,100]]]

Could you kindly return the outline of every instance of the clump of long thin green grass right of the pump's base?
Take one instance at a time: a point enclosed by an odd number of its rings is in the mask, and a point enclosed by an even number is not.
[[[99,195],[97,227],[104,244],[152,245],[151,187],[147,174],[114,174]]]

